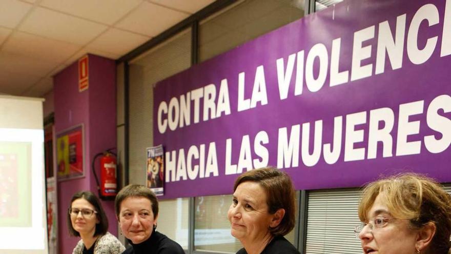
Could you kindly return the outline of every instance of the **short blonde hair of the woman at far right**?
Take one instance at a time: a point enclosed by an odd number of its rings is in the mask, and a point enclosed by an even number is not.
[[[421,174],[403,173],[368,184],[362,192],[359,219],[368,222],[368,211],[377,196],[395,218],[409,219],[412,228],[436,225],[431,253],[448,253],[451,234],[451,197],[438,182]]]

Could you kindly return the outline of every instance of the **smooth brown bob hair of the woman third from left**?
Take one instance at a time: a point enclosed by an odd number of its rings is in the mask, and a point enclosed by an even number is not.
[[[295,225],[295,194],[290,176],[274,168],[264,167],[241,174],[235,181],[233,191],[243,182],[256,182],[266,191],[268,212],[274,214],[278,209],[285,210],[279,225],[269,228],[273,236],[285,236]]]

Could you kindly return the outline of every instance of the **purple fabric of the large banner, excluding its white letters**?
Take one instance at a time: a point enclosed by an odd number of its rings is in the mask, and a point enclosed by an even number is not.
[[[323,159],[323,151],[321,151],[321,158],[316,165],[305,166],[300,154],[302,148],[301,141],[299,141],[299,166],[283,169],[291,175],[296,189],[357,187],[377,179],[380,175],[406,170],[426,173],[441,182],[450,182],[450,146],[448,145],[444,151],[439,153],[432,153],[426,149],[424,144],[424,136],[435,135],[436,139],[442,138],[441,133],[429,128],[426,123],[429,104],[439,95],[451,94],[451,85],[449,84],[451,55],[440,56],[444,18],[451,18],[445,17],[445,3],[451,5],[451,1],[345,1],[260,36],[227,53],[159,82],[154,88],[154,145],[162,144],[165,152],[176,151],[178,157],[179,149],[185,149],[186,156],[192,145],[199,147],[200,144],[206,144],[206,151],[208,151],[209,143],[215,142],[219,173],[217,177],[197,177],[195,180],[188,178],[175,182],[165,175],[165,195],[162,198],[232,193],[233,182],[238,174],[226,175],[224,173],[226,140],[229,138],[232,139],[232,163],[237,164],[242,136],[250,136],[252,159],[259,159],[253,151],[254,138],[259,131],[267,132],[269,143],[264,146],[269,151],[268,164],[277,166],[279,128],[286,127],[290,133],[292,126],[300,125],[300,139],[302,139],[302,124],[310,123],[310,153],[312,153],[315,121],[323,121],[322,144],[332,143],[334,117],[340,115],[343,116],[341,153],[336,163],[327,164]],[[406,41],[415,13],[426,4],[433,4],[437,8],[439,23],[429,27],[427,21],[422,21],[418,32],[418,48],[422,49],[426,45],[427,38],[438,36],[438,41],[432,56],[426,62],[414,64],[407,54]],[[402,14],[406,14],[402,67],[393,70],[388,56],[386,56],[384,72],[375,74],[379,23],[388,21],[394,34],[397,16]],[[360,65],[373,64],[372,74],[369,77],[351,81],[354,33],[371,26],[375,26],[374,37],[362,43],[363,47],[372,46],[371,56],[362,60]],[[331,48],[332,41],[336,38],[341,38],[339,70],[348,70],[349,76],[346,83],[330,86]],[[280,100],[276,60],[283,57],[284,68],[286,68],[288,56],[304,50],[303,64],[305,68],[309,51],[317,43],[322,43],[329,55],[324,85],[317,92],[309,91],[306,87],[304,71],[302,94],[295,96],[295,62],[288,98]],[[451,45],[446,45],[446,47],[451,47]],[[255,108],[238,112],[238,75],[240,72],[245,72],[244,97],[248,99],[252,95],[256,68],[260,65],[264,66],[268,104],[263,106],[257,104]],[[318,75],[319,60],[316,58],[313,76],[317,78]],[[189,126],[177,127],[173,131],[167,128],[164,133],[158,131],[157,110],[161,102],[164,101],[169,105],[172,97],[180,100],[180,95],[186,95],[193,89],[209,84],[214,84],[216,87],[217,101],[222,79],[228,81],[230,115],[222,114],[220,118],[202,121],[202,98],[199,123],[193,122],[194,103],[191,101],[191,124]],[[421,152],[413,155],[396,155],[400,104],[416,101],[424,101],[423,112],[410,116],[409,122],[419,121],[420,131],[418,134],[407,136],[407,141],[420,141]],[[391,108],[395,115],[391,131],[393,155],[383,158],[382,143],[379,143],[376,159],[367,159],[370,111],[384,107]],[[366,122],[356,125],[355,129],[364,131],[363,141],[356,142],[354,148],[365,148],[365,156],[363,160],[345,162],[346,115],[362,111],[366,112]],[[449,124],[451,113],[439,109],[439,114]],[[163,116],[167,118],[167,115]],[[379,128],[383,128],[383,123],[379,123]],[[205,156],[207,157],[207,154]],[[193,165],[197,164],[196,160]],[[166,170],[167,166],[165,165]]]

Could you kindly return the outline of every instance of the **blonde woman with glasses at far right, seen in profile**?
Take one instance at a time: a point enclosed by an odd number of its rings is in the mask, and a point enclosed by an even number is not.
[[[451,253],[451,198],[422,175],[405,173],[367,185],[359,218],[363,224],[355,232],[365,254]]]

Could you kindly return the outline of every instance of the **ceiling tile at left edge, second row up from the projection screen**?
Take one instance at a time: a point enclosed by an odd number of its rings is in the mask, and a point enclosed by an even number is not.
[[[28,55],[0,51],[0,70],[11,73],[45,76],[56,65],[56,63],[32,58]]]

